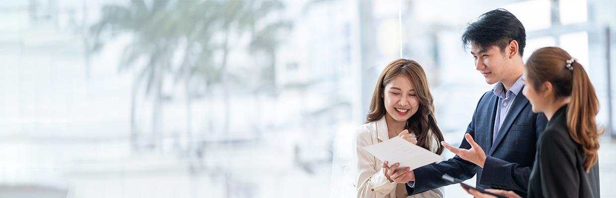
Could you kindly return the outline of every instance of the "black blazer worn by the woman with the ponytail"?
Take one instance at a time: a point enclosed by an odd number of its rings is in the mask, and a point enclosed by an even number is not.
[[[537,142],[529,197],[599,197],[599,162],[584,170],[584,150],[567,130],[567,106],[557,110]]]

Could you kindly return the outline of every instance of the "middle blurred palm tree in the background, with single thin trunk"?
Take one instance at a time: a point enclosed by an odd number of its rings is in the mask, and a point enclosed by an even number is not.
[[[214,63],[214,51],[219,47],[213,39],[220,29],[220,1],[179,1],[174,10],[181,10],[176,17],[181,23],[183,53],[175,81],[183,81],[185,93],[185,138],[187,150],[193,150],[192,100],[208,91],[209,86],[220,82],[219,67]]]

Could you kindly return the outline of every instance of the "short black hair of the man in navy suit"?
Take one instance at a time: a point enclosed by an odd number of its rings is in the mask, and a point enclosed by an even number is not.
[[[512,40],[517,41],[520,56],[524,55],[526,31],[513,13],[505,9],[496,9],[479,16],[479,20],[470,23],[462,34],[464,47],[479,45],[481,48],[498,46],[502,51]]]

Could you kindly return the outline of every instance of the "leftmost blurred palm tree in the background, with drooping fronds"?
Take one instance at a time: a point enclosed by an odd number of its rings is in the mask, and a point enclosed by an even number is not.
[[[132,36],[131,43],[121,53],[119,70],[136,70],[131,94],[131,139],[139,137],[136,125],[136,98],[140,85],[145,83],[146,96],[153,98],[152,138],[150,147],[155,147],[161,134],[162,85],[166,72],[171,71],[171,57],[180,36],[175,18],[169,17],[168,1],[131,1],[127,6],[107,5],[102,9],[100,21],[91,31],[94,34],[92,51],[99,51],[107,39],[120,34]],[[108,34],[107,34],[108,33]],[[141,64],[140,64],[141,63]]]

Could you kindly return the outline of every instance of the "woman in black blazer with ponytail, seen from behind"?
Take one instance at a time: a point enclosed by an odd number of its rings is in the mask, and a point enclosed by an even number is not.
[[[558,47],[540,48],[524,67],[522,93],[548,118],[537,142],[529,197],[599,197],[599,100],[584,67]],[[466,189],[475,197],[493,197]],[[488,189],[508,197],[512,191]]]

